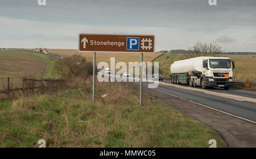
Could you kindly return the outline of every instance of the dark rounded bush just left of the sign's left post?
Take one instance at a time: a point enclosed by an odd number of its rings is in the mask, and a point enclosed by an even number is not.
[[[93,74],[93,64],[81,54],[76,53],[71,57],[57,61],[56,72],[65,79],[74,77],[86,79]]]

